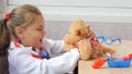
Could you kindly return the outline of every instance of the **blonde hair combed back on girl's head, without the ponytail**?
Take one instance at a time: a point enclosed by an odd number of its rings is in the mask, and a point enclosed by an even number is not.
[[[11,12],[11,17],[7,23],[11,35],[16,37],[14,34],[14,28],[16,26],[26,28],[26,26],[35,20],[36,15],[41,15],[41,12],[34,5],[24,4],[13,9]]]

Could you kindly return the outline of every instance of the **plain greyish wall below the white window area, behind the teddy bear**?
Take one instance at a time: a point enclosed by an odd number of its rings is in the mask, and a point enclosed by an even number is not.
[[[46,36],[63,39],[68,32],[72,21],[46,21]],[[132,40],[132,23],[86,22],[97,35]]]

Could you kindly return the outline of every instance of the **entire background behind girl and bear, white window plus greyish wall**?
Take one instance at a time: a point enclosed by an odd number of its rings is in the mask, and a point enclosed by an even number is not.
[[[97,35],[132,40],[132,0],[0,0],[0,18],[20,4],[41,10],[52,39],[63,39],[73,21],[82,18]]]

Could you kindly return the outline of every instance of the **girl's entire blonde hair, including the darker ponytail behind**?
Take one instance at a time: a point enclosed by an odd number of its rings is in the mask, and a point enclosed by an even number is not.
[[[6,18],[0,20],[0,50],[9,47],[11,36],[16,38],[15,27],[26,28],[35,20],[36,15],[42,15],[36,7],[23,4],[11,11],[9,21]]]

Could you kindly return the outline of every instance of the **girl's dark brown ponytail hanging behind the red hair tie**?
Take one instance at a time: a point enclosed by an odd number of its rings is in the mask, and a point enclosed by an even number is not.
[[[10,32],[7,27],[7,20],[0,20],[0,55],[7,54],[8,47],[10,46]]]

